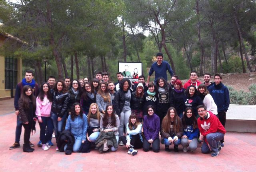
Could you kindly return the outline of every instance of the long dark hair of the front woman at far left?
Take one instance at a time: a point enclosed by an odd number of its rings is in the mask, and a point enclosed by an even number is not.
[[[30,89],[32,92],[32,94],[30,96],[27,96],[25,93],[26,91],[28,91],[28,89]],[[29,109],[29,102],[32,101],[34,110],[36,110],[36,97],[34,96],[34,92],[31,88],[31,86],[29,86],[29,85],[23,86],[20,99],[22,100],[22,107],[24,109]]]

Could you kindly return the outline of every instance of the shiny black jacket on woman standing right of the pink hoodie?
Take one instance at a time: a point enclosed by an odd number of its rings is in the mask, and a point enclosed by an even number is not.
[[[58,93],[55,92],[54,90],[51,90],[51,92],[52,92],[52,98],[53,98],[51,111],[53,113],[56,113],[58,117],[63,117],[63,115],[66,113],[68,109],[70,94],[66,92],[58,95]]]

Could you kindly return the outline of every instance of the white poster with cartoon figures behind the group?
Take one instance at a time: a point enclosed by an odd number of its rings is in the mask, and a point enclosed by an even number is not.
[[[142,75],[142,63],[137,62],[119,62],[119,72],[122,72],[123,78],[129,79],[132,84],[138,83],[138,78]],[[133,71],[133,72],[131,72]]]

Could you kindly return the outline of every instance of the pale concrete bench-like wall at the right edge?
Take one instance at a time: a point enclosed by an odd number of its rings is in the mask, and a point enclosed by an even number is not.
[[[226,114],[225,129],[256,133],[256,105],[230,105]]]

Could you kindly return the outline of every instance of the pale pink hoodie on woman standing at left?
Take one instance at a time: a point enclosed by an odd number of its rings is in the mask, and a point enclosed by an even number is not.
[[[50,102],[47,96],[44,96],[44,100],[41,101],[39,97],[36,98],[36,116],[38,119],[42,117],[50,117],[52,102]]]

